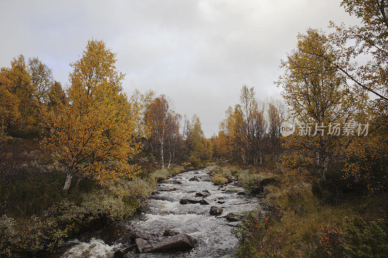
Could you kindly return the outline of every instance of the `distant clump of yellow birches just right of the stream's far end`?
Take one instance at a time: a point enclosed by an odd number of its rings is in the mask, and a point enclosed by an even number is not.
[[[213,157],[245,165],[262,164],[263,158],[278,162],[282,153],[280,125],[286,107],[281,101],[259,102],[254,88],[244,85],[240,104],[229,106],[226,119],[213,135]]]

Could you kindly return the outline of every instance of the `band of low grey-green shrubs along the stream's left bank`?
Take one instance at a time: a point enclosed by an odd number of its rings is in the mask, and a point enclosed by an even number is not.
[[[130,181],[116,179],[75,200],[62,199],[42,216],[26,220],[3,215],[0,218],[0,255],[34,254],[38,250],[52,251],[64,240],[82,229],[121,220],[146,204],[154,182],[140,178]]]

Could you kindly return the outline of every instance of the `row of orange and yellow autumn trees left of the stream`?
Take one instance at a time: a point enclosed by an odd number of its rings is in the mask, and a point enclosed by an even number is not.
[[[0,72],[1,138],[37,137],[72,178],[104,181],[138,173],[129,158],[150,151],[160,167],[191,162],[202,166],[212,155],[197,116],[189,121],[173,102],[153,91],[122,89],[124,74],[115,70],[115,54],[102,41],[88,42],[72,63],[70,86],[63,89],[38,58],[20,55]]]

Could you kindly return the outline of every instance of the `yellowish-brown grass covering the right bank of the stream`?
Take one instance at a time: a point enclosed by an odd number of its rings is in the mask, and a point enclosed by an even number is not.
[[[230,166],[223,168],[231,170]],[[312,256],[320,246],[322,227],[337,225],[344,218],[353,216],[376,221],[384,218],[382,207],[388,206],[387,198],[381,196],[348,194],[340,203],[320,199],[314,195],[317,186],[308,173],[286,177],[275,169],[250,167],[237,168],[236,176],[247,192],[262,197],[261,209],[269,211],[272,218],[268,232],[272,232],[274,239],[282,240],[279,248],[285,257]],[[255,223],[247,221],[241,229],[235,230],[239,239],[238,257],[265,257],[260,244],[250,237],[250,234],[259,234],[255,230],[260,229],[253,230],[255,226],[252,225]]]

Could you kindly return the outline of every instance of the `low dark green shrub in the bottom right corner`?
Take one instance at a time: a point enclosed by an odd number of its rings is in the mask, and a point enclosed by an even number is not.
[[[313,257],[388,257],[388,228],[384,220],[346,217],[337,225],[322,226]]]

